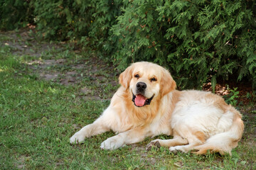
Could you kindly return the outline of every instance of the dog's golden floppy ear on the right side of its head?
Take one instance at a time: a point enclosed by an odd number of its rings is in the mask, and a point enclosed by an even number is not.
[[[175,89],[176,82],[171,77],[171,74],[166,69],[163,69],[161,75],[161,96],[164,96]]]

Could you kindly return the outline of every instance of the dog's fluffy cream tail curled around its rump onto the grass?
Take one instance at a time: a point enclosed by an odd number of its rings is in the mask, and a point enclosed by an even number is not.
[[[194,147],[194,149],[198,150],[196,154],[206,154],[210,150],[210,152],[228,153],[231,155],[231,150],[238,146],[238,142],[242,137],[244,124],[241,119],[242,115],[235,108],[231,108],[230,111],[234,113],[233,124],[230,129],[213,135],[203,145]]]

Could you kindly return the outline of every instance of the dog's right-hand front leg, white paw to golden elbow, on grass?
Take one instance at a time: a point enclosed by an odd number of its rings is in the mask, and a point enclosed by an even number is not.
[[[141,142],[144,140],[145,137],[147,137],[146,134],[148,133],[148,130],[144,127],[138,127],[134,128],[132,130],[128,130],[126,132],[121,132],[118,135],[115,135],[113,137],[108,138],[102,144],[100,145],[100,148],[102,149],[117,149],[119,147],[122,147],[126,144],[133,144],[137,142]]]

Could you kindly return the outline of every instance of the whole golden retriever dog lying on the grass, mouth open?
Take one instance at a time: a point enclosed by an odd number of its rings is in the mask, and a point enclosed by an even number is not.
[[[112,130],[117,135],[100,147],[117,149],[145,137],[172,135],[146,146],[169,147],[171,152],[231,154],[238,146],[244,125],[241,114],[223,98],[205,91],[177,91],[171,74],[157,64],[137,62],[119,76],[121,86],[110,106],[94,123],[70,138],[70,143]]]

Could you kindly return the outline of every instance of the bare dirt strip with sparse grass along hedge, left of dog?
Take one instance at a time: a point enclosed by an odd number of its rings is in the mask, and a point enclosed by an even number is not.
[[[65,86],[79,86],[84,98],[110,99],[118,86],[118,74],[112,64],[87,52],[73,50],[66,42],[36,39],[33,29],[0,32],[0,46],[11,55],[23,57],[24,67],[38,79]],[[103,91],[112,92],[105,95]]]

